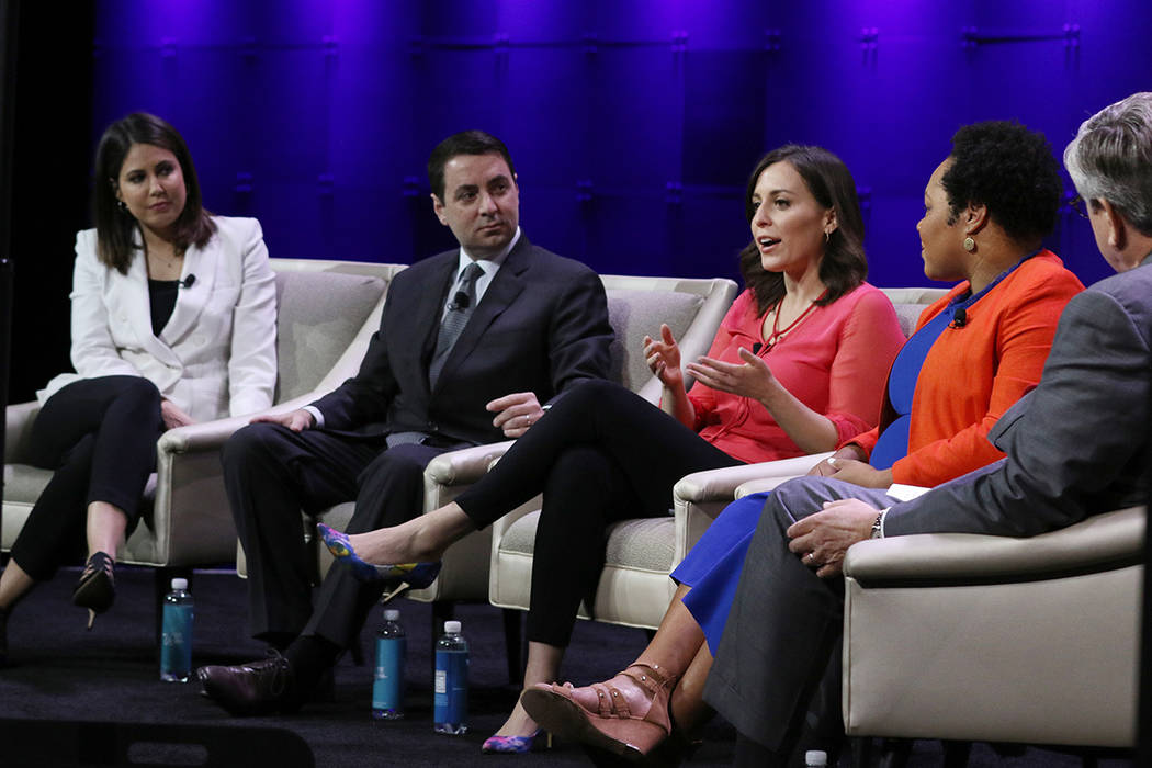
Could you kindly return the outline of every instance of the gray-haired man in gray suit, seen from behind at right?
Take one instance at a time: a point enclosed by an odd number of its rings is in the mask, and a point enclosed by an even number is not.
[[[1064,165],[1120,274],[1068,304],[1039,386],[988,435],[1007,458],[907,502],[831,478],[776,488],[705,689],[741,733],[737,765],[794,765],[806,746],[805,713],[839,664],[851,545],[912,533],[1029,537],[1146,500],[1152,93],[1085,121]]]

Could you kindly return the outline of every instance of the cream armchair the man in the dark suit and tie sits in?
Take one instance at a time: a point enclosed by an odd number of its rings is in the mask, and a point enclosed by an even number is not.
[[[707,351],[720,321],[736,297],[736,284],[730,280],[681,280],[676,277],[638,277],[627,275],[601,275],[608,295],[608,318],[616,339],[612,347],[609,378],[636,391],[649,402],[660,398],[660,382],[649,371],[644,362],[642,340],[655,335],[660,324],[667,322],[687,356],[699,356]],[[477,446],[464,450],[442,454],[429,464],[424,472],[424,510],[431,511],[450,502],[468,486],[488,471],[511,441]],[[354,505],[340,504],[321,514],[327,525],[340,530],[351,519]],[[515,519],[528,511],[539,509],[531,503],[513,512]],[[490,530],[478,531],[453,545],[445,555],[440,576],[426,590],[415,590],[408,596],[423,602],[437,603],[433,622],[448,614],[453,601],[476,601],[488,599],[488,563],[492,553],[492,535],[507,524],[498,523]],[[532,519],[535,527],[535,518]],[[319,547],[320,570],[326,571],[332,557]],[[518,615],[515,615],[518,619]],[[508,624],[509,634],[516,623]],[[435,634],[435,632],[433,633]],[[518,640],[509,645],[515,653]],[[518,667],[515,659],[509,667]],[[513,671],[513,676],[518,674]]]

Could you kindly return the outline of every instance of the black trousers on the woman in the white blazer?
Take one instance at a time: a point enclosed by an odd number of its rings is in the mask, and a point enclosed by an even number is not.
[[[162,432],[160,393],[141,377],[82,379],[50,397],[29,448],[30,463],[54,473],[12,546],[13,560],[37,581],[52,578],[85,552],[94,501],[123,510],[131,531]]]

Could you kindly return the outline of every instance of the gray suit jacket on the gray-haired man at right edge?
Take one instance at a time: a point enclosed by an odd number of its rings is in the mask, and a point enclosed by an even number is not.
[[[1069,302],[1040,383],[988,434],[1008,457],[893,507],[885,534],[1026,537],[1144,503],[1152,256]]]

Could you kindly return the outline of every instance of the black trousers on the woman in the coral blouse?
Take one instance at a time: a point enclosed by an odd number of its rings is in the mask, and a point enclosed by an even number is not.
[[[680,478],[740,463],[623,387],[589,381],[560,398],[456,503],[483,529],[544,494],[528,639],[563,647],[604,568],[607,525],[667,515]]]

